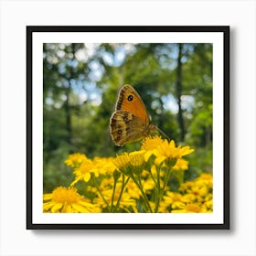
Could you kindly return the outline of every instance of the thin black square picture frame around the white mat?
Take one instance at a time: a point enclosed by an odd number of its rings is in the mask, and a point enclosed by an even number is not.
[[[222,223],[37,223],[33,219],[33,36],[35,33],[221,33],[223,35],[223,221]],[[229,229],[229,26],[27,27],[27,229]]]

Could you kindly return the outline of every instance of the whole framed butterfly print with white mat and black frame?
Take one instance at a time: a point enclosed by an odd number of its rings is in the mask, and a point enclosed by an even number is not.
[[[229,229],[229,27],[27,27],[27,229]]]

